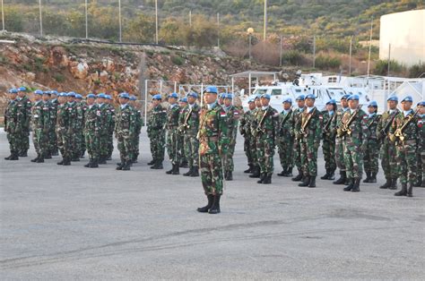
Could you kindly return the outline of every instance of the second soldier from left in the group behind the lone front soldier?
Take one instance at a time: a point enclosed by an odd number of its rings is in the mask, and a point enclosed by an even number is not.
[[[179,175],[180,154],[178,151],[178,93],[169,94],[169,109],[167,110],[167,152],[172,168],[165,172],[168,175]]]

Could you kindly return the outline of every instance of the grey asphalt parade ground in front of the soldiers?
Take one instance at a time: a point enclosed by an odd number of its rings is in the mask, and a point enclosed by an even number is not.
[[[221,214],[204,206],[200,178],[151,170],[149,144],[131,171],[108,165],[5,161],[0,133],[2,280],[423,279],[425,189],[397,198],[378,183],[361,192],[273,175],[257,184],[239,138]],[[319,175],[324,162],[319,152]],[[275,174],[281,171],[275,155]],[[181,169],[180,173],[186,172]]]

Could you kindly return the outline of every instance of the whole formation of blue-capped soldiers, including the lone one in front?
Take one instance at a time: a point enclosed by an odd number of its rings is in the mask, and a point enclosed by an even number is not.
[[[26,157],[30,147],[30,128],[37,157],[32,162],[57,156],[57,164],[69,166],[89,155],[86,167],[95,168],[111,159],[113,135],[117,138],[120,162],[117,170],[130,170],[137,163],[139,136],[143,126],[135,97],[118,96],[113,105],[111,96],[103,93],[82,96],[74,92],[57,93],[35,90],[34,100],[26,97],[27,89],[11,89],[4,115],[4,130],[11,155],[5,159]],[[248,169],[244,173],[258,178],[257,183],[272,183],[273,156],[277,148],[282,166],[279,176],[292,177],[299,186],[316,187],[317,152],[322,143],[325,158],[323,180],[334,180],[336,168],[340,177],[334,184],[343,184],[346,192],[360,192],[363,183],[377,183],[378,158],[386,176],[382,189],[402,190],[396,196],[412,196],[413,186],[425,184],[425,102],[412,109],[412,97],[403,98],[402,111],[398,99],[387,100],[388,110],[377,115],[377,103],[371,101],[368,112],[360,109],[359,96],[344,95],[341,107],[334,99],[325,110],[315,106],[312,94],[299,95],[293,105],[291,98],[282,101],[282,112],[270,103],[270,95],[252,96],[247,111],[234,106],[233,95],[219,94],[208,87],[203,98],[190,92],[185,98],[177,93],[168,97],[152,97],[152,110],[147,121],[152,169],[163,169],[167,150],[171,169],[168,175],[201,175],[208,203],[200,212],[220,213],[220,197],[224,181],[233,180],[233,155],[237,132],[244,138]],[[201,99],[201,100],[200,100]],[[293,176],[294,167],[297,175]]]

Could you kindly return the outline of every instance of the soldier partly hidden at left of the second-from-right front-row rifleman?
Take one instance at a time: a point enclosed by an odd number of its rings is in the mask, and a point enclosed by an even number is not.
[[[336,110],[336,130],[341,126],[341,120],[343,119],[343,114],[349,110],[348,107],[348,101],[347,98],[349,98],[350,95],[346,94],[343,95],[341,98],[341,108]],[[336,134],[335,138],[335,160],[336,160],[336,166],[340,169],[340,178],[334,181],[334,184],[346,184],[347,181],[347,172],[345,170],[345,161],[343,158],[343,138],[339,137],[338,134]]]

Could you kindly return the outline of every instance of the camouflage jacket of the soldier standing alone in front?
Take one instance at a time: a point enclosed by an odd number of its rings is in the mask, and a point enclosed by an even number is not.
[[[227,114],[217,103],[211,108],[204,107],[200,115],[199,123],[199,154],[221,154],[227,153],[229,145]]]

